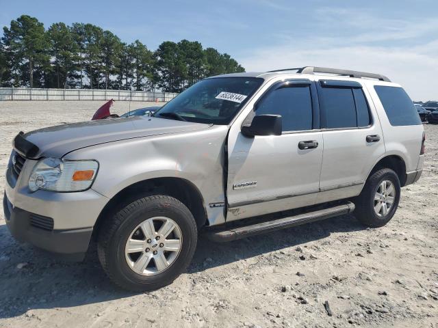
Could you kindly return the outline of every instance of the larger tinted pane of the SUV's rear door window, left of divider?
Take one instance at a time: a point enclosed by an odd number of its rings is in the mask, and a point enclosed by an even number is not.
[[[322,127],[352,128],[357,126],[355,98],[350,87],[321,87],[318,90],[318,96],[322,110]]]

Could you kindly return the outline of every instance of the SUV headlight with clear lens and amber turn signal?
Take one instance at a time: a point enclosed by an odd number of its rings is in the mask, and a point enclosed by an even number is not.
[[[84,191],[90,188],[99,164],[96,161],[65,161],[47,158],[39,161],[29,178],[29,189],[37,191]]]

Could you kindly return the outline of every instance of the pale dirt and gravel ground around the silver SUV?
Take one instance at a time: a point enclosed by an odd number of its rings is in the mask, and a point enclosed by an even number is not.
[[[18,131],[88,120],[101,103],[0,102],[0,189]],[[95,245],[68,263],[17,243],[1,213],[0,327],[438,327],[438,126],[424,128],[423,176],[384,228],[342,216],[226,244],[201,237],[187,273],[155,292],[115,288]]]

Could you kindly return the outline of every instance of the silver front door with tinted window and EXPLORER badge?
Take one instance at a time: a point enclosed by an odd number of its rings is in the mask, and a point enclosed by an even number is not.
[[[323,150],[316,99],[307,79],[275,83],[247,119],[281,115],[282,134],[230,135],[227,221],[315,204]],[[300,149],[303,141],[313,146]]]

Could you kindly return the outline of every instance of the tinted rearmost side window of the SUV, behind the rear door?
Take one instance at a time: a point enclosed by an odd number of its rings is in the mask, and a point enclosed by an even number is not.
[[[411,98],[402,87],[375,85],[374,90],[392,126],[422,124]]]

